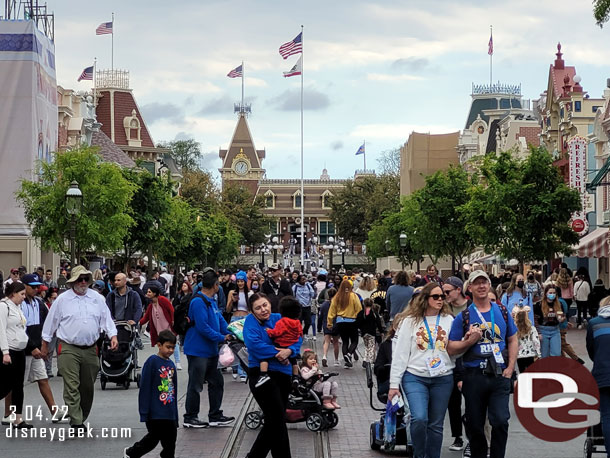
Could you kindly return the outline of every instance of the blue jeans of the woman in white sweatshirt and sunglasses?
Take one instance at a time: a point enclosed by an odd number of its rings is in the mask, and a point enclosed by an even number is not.
[[[453,375],[420,377],[405,372],[402,389],[411,409],[413,458],[440,458]]]

